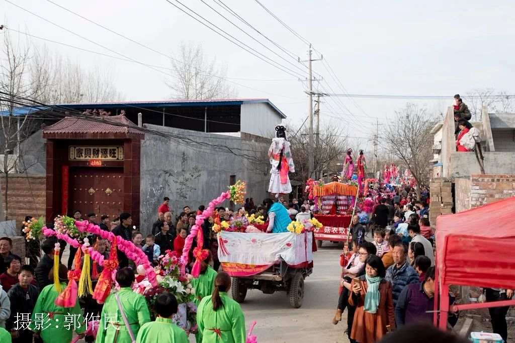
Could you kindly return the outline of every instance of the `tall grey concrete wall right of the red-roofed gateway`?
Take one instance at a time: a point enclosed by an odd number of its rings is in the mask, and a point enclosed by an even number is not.
[[[182,211],[185,205],[197,209],[199,205],[208,205],[213,198],[225,192],[230,184],[231,175],[247,182],[247,196],[253,197],[254,203],[261,203],[266,197],[269,181],[266,153],[269,143],[155,125],[148,125],[148,127],[171,134],[194,135],[190,138],[201,141],[204,146],[191,145],[186,142],[179,145],[157,135],[148,133],[145,135],[145,140],[141,143],[140,190],[140,226],[143,232],[150,231],[164,196],[170,198],[170,208],[174,210],[175,214]],[[216,146],[220,146],[220,148]],[[227,146],[235,154],[245,157],[228,153],[221,148],[222,146]],[[185,198],[180,198],[177,194],[179,187],[174,180],[177,181],[181,178],[183,153],[186,157],[186,173],[191,171],[192,166],[197,166],[200,168],[200,177],[187,183],[196,190],[189,192]],[[222,206],[228,207],[229,202]]]

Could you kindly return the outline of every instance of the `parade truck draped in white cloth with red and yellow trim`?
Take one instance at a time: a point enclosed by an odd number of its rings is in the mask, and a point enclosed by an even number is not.
[[[304,298],[304,279],[313,272],[313,232],[221,231],[218,259],[232,277],[235,301],[243,302],[249,289],[286,292],[297,309]]]

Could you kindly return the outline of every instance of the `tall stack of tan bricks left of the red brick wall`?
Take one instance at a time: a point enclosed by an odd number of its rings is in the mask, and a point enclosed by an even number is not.
[[[430,184],[431,203],[429,204],[429,221],[436,226],[436,218],[441,214],[453,213],[453,183],[445,178],[433,178]]]

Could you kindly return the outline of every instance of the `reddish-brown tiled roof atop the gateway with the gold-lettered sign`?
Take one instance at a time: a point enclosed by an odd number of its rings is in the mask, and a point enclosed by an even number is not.
[[[143,135],[143,132],[139,130],[138,126],[127,119],[124,115],[95,118],[105,122],[92,122],[91,120],[82,118],[65,117],[64,119],[59,120],[57,123],[44,128],[43,135],[64,133],[121,133]]]

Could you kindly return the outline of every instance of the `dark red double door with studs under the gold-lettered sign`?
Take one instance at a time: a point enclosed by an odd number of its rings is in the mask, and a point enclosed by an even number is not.
[[[107,214],[111,219],[123,212],[123,168],[73,168],[70,171],[70,205],[88,212]]]

